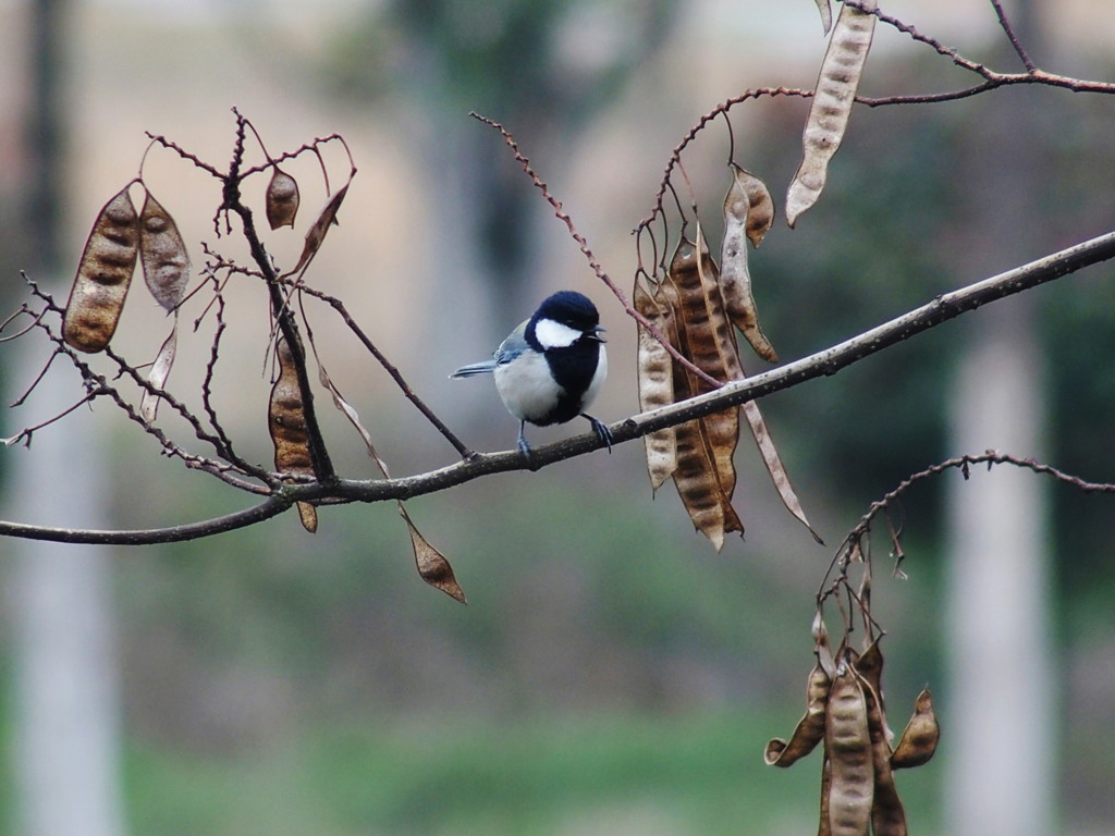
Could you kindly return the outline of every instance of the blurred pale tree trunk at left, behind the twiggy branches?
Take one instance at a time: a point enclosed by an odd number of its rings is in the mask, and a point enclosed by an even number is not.
[[[56,278],[61,272],[67,109],[62,59],[69,3],[36,0],[30,11],[26,266],[52,291],[65,293]],[[21,352],[18,368],[39,368],[42,354]],[[19,375],[16,386],[28,379]],[[39,416],[54,415],[78,395],[72,377],[48,376],[28,409]],[[12,451],[7,489],[16,519],[104,525],[104,445],[89,435],[90,421],[81,424],[65,421],[36,436],[33,459]],[[35,541],[11,543],[14,832],[21,836],[120,836],[108,553]]]

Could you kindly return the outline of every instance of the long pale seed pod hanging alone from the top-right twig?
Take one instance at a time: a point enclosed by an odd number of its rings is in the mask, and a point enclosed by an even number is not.
[[[844,138],[875,31],[875,16],[871,13],[874,7],[873,0],[865,2],[864,9],[844,3],[836,18],[802,134],[802,164],[786,194],[786,223],[791,226],[817,202],[825,187],[828,161]]]

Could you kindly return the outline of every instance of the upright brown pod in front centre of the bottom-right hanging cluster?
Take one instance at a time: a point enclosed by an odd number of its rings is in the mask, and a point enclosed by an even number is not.
[[[825,751],[832,761],[828,788],[832,834],[867,836],[875,784],[867,700],[860,677],[847,662],[828,692]]]

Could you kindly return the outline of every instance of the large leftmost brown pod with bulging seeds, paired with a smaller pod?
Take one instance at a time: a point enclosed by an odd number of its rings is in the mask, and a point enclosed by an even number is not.
[[[124,310],[139,242],[130,185],[101,207],[85,242],[62,320],[62,337],[78,351],[103,351]]]

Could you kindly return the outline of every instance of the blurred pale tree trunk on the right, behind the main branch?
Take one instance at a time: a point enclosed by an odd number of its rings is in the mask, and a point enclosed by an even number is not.
[[[1019,0],[1008,11],[1022,42],[1039,51],[1034,4]],[[1011,61],[1014,54],[998,59]],[[960,256],[961,274],[998,272],[1049,243],[1041,240],[1043,202],[1030,176],[1041,168],[1041,117],[1037,106],[1020,104],[1028,94],[982,98],[982,127],[961,149],[961,179],[977,195],[963,216],[972,245]],[[1038,304],[1024,294],[968,323],[951,396],[951,450],[1043,458],[1047,386]],[[944,830],[953,836],[1058,832],[1045,487],[1010,467],[951,485],[947,710],[954,745]]]

